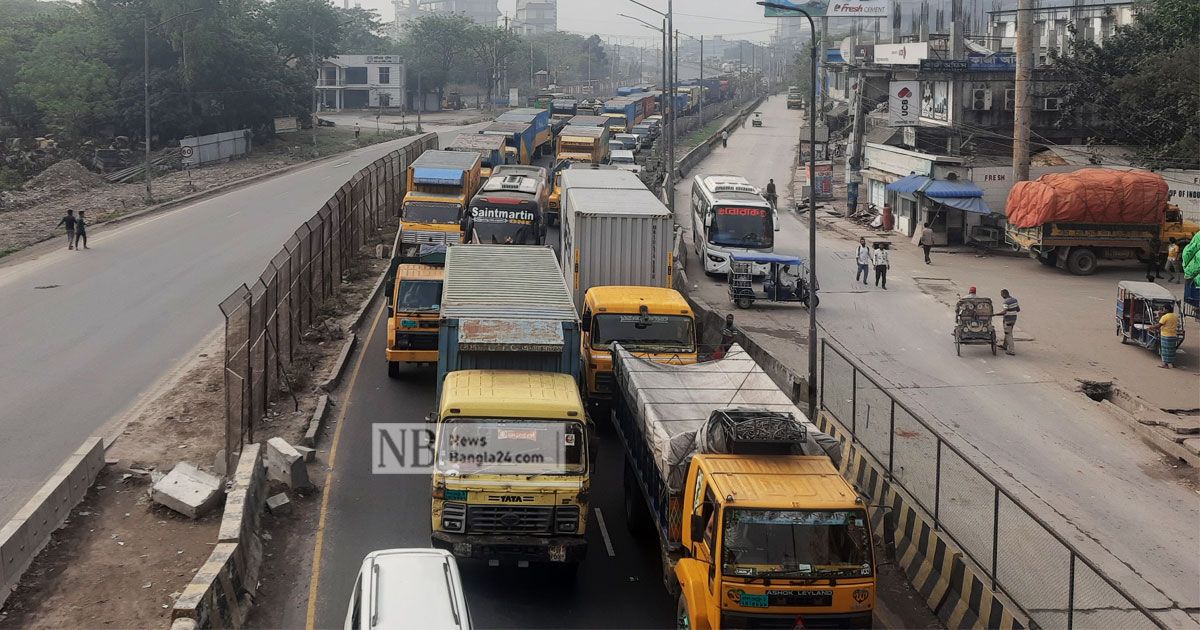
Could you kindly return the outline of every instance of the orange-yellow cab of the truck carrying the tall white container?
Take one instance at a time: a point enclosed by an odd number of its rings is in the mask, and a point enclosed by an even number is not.
[[[688,300],[661,287],[592,287],[583,295],[580,356],[589,403],[612,398],[612,344],[656,362],[695,364],[696,317]]]

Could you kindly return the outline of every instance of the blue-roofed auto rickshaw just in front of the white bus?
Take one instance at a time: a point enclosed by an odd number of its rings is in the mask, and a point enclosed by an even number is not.
[[[766,266],[762,278],[762,290],[756,290],[754,278],[756,268]],[[773,302],[800,302],[805,307],[816,308],[821,302],[814,286],[809,290],[808,266],[794,256],[775,253],[736,253],[730,257],[730,300],[738,308],[750,308],[755,300]],[[757,274],[762,275],[762,274]],[[811,300],[810,300],[811,296]],[[810,304],[811,301],[811,304]]]

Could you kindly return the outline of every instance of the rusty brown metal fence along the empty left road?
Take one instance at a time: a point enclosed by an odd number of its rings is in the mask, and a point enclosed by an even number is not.
[[[398,216],[408,164],[437,146],[437,134],[427,133],[355,173],[300,224],[253,284],[221,302],[228,469],[240,445],[254,442],[268,404],[287,385],[300,335],[338,293],[342,272],[367,235],[388,212]]]

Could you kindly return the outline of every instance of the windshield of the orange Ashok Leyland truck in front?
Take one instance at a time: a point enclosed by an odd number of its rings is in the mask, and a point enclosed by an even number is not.
[[[732,577],[868,577],[862,510],[725,510],[721,571]]]

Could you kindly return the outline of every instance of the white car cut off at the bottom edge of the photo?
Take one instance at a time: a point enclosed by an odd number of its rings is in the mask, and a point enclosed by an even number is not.
[[[470,630],[454,556],[445,550],[373,551],[354,582],[346,630]]]

